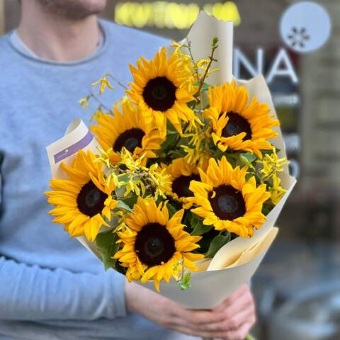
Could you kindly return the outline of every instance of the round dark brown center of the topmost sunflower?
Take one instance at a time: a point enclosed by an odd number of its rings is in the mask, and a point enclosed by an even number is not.
[[[143,90],[147,106],[156,111],[166,111],[176,101],[176,86],[166,77],[156,77],[148,81]]]

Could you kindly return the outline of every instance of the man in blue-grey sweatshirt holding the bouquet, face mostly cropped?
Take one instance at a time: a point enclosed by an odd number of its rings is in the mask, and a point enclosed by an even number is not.
[[[84,115],[80,90],[106,72],[127,84],[129,62],[169,45],[98,21],[105,6],[21,0],[20,26],[0,40],[0,339],[242,340],[255,322],[247,286],[214,310],[188,310],[104,272],[47,215],[44,149]]]

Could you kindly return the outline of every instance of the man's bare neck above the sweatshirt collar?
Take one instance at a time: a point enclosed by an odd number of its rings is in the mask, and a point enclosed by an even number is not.
[[[39,57],[67,62],[91,55],[98,46],[101,32],[95,15],[71,21],[53,16],[39,6],[30,6],[22,11],[18,35]]]

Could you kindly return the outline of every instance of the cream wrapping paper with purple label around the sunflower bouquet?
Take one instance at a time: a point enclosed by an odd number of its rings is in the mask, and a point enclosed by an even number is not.
[[[188,34],[195,59],[210,55],[212,38],[217,36],[220,39],[217,48],[219,52],[216,55],[218,62],[214,65],[214,67],[220,69],[220,72],[212,74],[212,77],[208,79],[211,85],[222,84],[233,79],[232,30],[232,23],[218,21],[201,12]],[[246,87],[250,98],[256,96],[260,102],[267,103],[271,108],[271,113],[276,116],[270,91],[262,76],[249,81],[235,80],[238,84]],[[279,136],[272,143],[280,149],[280,157],[286,157],[282,133],[280,128],[277,128],[277,130]],[[61,162],[72,164],[79,149],[85,151],[91,149],[92,152],[97,153],[97,146],[98,143],[84,122],[80,119],[74,120],[67,128],[64,137],[47,147],[52,178],[64,178],[65,175],[60,169]],[[170,283],[162,281],[160,294],[186,307],[210,309],[222,302],[242,284],[249,283],[251,276],[254,275],[276,237],[278,228],[274,225],[296,183],[296,180],[289,176],[287,167],[283,173],[280,173],[280,179],[287,193],[268,214],[267,221],[261,226],[261,229],[255,232],[254,237],[251,239],[238,237],[222,246],[213,259],[199,261],[200,271],[192,273],[191,288],[181,291],[175,280],[171,280]],[[77,237],[77,239],[101,260],[96,244],[89,242],[84,237]],[[143,286],[156,291],[152,282]]]

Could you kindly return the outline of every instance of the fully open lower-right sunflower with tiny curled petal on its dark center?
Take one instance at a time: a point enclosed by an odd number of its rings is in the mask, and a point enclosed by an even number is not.
[[[252,237],[266,217],[263,202],[271,197],[266,184],[256,187],[255,177],[246,181],[246,168],[232,169],[225,157],[218,162],[210,159],[208,170],[200,170],[200,182],[193,181],[191,201],[198,206],[191,211],[203,217],[204,225],[216,230],[227,230],[241,237]]]

